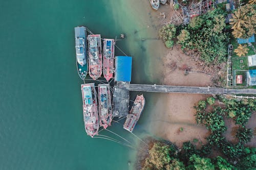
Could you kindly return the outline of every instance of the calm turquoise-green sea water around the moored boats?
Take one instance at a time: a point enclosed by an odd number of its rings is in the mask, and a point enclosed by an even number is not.
[[[125,33],[127,38],[117,45],[133,57],[133,83],[158,82],[154,42],[136,41],[136,37],[154,36],[155,28],[143,22],[148,15],[143,8],[150,6],[147,1],[135,3],[1,1],[0,169],[133,169],[135,151],[92,139],[84,131],[74,27],[84,25],[107,38]],[[116,55],[121,52],[116,50]],[[153,95],[145,96],[152,104]],[[138,135],[148,133],[149,110],[145,108]],[[121,124],[110,130],[135,141]]]

